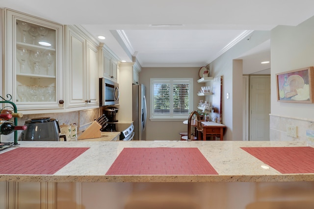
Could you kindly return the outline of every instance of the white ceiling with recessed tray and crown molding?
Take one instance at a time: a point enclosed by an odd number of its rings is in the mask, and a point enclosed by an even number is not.
[[[86,3],[88,2],[88,3]],[[142,67],[201,67],[253,30],[297,25],[313,0],[0,0],[0,7],[80,24],[121,60]],[[244,74],[270,69],[269,41],[243,54]],[[252,71],[253,69],[253,71]]]

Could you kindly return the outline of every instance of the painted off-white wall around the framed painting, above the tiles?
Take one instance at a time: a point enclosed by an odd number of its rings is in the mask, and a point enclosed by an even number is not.
[[[271,114],[314,119],[314,104],[277,101],[276,73],[314,66],[314,17],[271,31]]]

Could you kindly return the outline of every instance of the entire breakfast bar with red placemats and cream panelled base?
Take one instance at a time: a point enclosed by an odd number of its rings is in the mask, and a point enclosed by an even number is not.
[[[0,208],[314,208],[306,142],[19,143],[0,153]]]

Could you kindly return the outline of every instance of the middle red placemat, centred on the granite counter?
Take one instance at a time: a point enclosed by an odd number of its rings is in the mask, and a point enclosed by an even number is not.
[[[217,175],[198,148],[124,148],[106,175]]]

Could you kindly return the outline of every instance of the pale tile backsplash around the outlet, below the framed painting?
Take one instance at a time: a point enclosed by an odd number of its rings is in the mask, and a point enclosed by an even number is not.
[[[310,119],[270,115],[269,122],[271,141],[307,141],[307,130],[314,130],[314,121]],[[288,136],[287,125],[297,127],[296,138]]]

